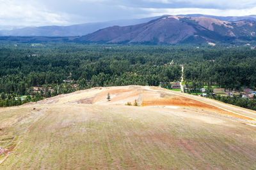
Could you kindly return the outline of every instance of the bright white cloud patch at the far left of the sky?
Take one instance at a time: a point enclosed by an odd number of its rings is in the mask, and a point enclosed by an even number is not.
[[[0,0],[0,25],[67,25],[68,15],[32,1]]]

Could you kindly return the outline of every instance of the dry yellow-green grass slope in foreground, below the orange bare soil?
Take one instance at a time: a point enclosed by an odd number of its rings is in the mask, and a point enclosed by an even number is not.
[[[19,137],[20,145],[0,169],[256,167],[256,131],[228,118],[166,108],[47,107],[36,122],[31,120],[28,131]]]

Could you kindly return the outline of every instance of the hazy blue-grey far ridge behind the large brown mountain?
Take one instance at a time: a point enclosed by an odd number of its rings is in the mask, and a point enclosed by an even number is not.
[[[220,17],[213,15],[201,15],[201,14],[191,14],[191,15],[180,15],[184,17],[208,17],[215,18],[223,21],[238,21],[238,20],[255,20],[256,15],[244,16],[244,17]],[[44,27],[22,27],[15,28],[15,26],[10,26],[14,29],[0,30],[0,36],[84,36],[90,34],[99,29],[104,29],[106,27],[111,27],[113,25],[118,26],[127,26],[127,25],[136,25],[149,22],[159,17],[149,17],[149,18],[140,18],[140,19],[131,19],[131,20],[113,20],[108,22],[92,22],[86,24],[76,24],[68,26],[57,26],[49,25]],[[164,16],[162,16],[164,17]]]

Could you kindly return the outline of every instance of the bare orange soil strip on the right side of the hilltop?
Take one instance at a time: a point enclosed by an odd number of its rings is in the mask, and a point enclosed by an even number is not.
[[[202,109],[205,111],[212,111],[214,113],[242,118],[244,120],[253,120],[252,118],[237,115],[236,113],[222,110],[221,108],[218,108],[216,106],[211,106],[210,104],[205,104],[200,101],[189,99],[188,97],[181,97],[175,95],[173,95],[172,98],[161,99],[156,95],[154,96],[154,94],[143,94],[143,101],[141,103],[141,106],[184,106],[189,108]]]

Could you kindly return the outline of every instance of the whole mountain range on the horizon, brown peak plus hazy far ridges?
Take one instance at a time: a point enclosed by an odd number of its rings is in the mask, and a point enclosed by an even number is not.
[[[115,26],[107,27],[108,25]],[[96,31],[97,29],[99,30]],[[3,32],[0,32],[0,34],[3,35]],[[68,27],[30,27],[14,29],[11,32],[12,34],[10,35],[12,36],[34,37],[2,37],[0,39],[21,42],[75,41],[79,43],[125,44],[250,43],[256,40],[256,16],[216,17],[200,14],[187,16],[166,15],[163,17],[142,18],[138,20],[71,25]],[[87,34],[88,32],[93,33]],[[81,36],[83,34],[86,35]],[[49,36],[50,38],[45,38],[45,36]],[[52,36],[66,38],[53,38]]]

